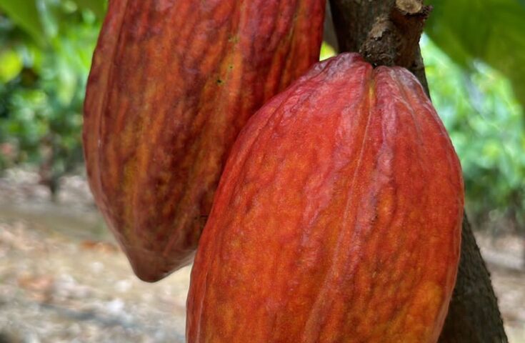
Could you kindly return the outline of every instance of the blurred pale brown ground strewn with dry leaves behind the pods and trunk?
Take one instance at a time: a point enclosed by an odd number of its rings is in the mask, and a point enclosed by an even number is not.
[[[184,342],[189,268],[136,279],[81,177],[56,204],[31,172],[0,179],[0,343]],[[517,237],[478,235],[511,343],[525,343],[525,269]]]

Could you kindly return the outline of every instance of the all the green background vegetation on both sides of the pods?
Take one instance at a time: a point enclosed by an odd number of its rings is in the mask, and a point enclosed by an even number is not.
[[[428,2],[421,48],[471,219],[523,232],[525,1]],[[0,0],[0,171],[34,166],[53,194],[63,174],[83,172],[82,102],[104,11],[104,0]]]

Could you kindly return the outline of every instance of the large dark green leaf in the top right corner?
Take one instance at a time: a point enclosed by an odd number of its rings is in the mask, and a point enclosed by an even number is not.
[[[525,104],[525,1],[429,0],[426,33],[462,66],[480,59],[511,79]]]

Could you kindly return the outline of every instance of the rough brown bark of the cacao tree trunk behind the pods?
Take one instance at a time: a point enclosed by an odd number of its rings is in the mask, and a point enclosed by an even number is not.
[[[372,64],[404,66],[429,93],[419,37],[430,8],[422,0],[330,0],[339,51]],[[508,342],[490,274],[464,216],[456,287],[440,343]]]

